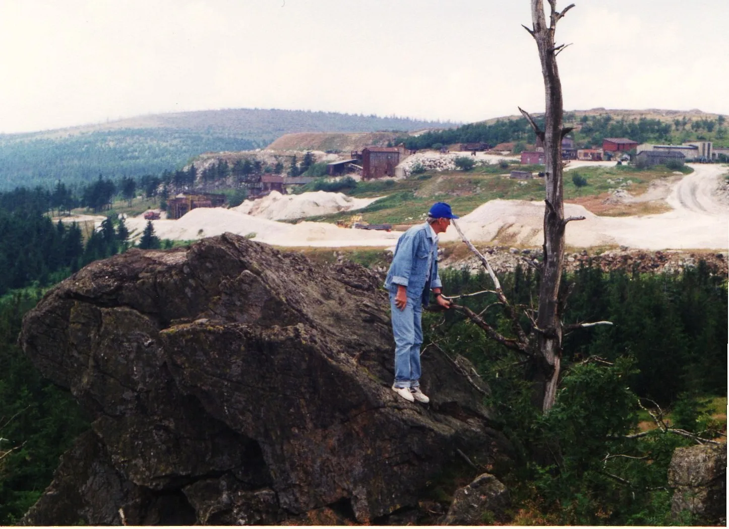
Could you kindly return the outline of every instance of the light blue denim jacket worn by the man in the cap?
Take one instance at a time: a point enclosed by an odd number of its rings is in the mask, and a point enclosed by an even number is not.
[[[430,274],[428,260],[432,254]],[[443,286],[438,276],[438,243],[427,223],[411,227],[400,235],[387,272],[385,288],[397,292],[397,285],[407,287],[408,297],[422,297],[428,303],[430,289]]]

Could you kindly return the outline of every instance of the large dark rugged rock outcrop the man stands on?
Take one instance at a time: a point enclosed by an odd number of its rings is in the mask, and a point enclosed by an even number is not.
[[[363,267],[231,234],[90,264],[23,322],[93,419],[24,521],[386,522],[456,449],[507,450],[447,358],[423,356],[429,406],[390,390],[387,309]]]

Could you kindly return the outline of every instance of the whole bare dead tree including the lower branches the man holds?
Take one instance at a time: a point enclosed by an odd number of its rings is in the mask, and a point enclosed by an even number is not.
[[[476,314],[468,307],[451,305],[454,309],[463,313],[469,318],[472,324],[483,329],[483,332],[505,348],[512,350],[520,359],[520,364],[529,366],[526,373],[528,380],[534,383],[534,404],[548,412],[554,404],[559,376],[561,372],[562,358],[562,334],[564,330],[592,327],[596,325],[612,325],[609,321],[580,322],[576,324],[563,325],[561,321],[561,307],[564,300],[560,299],[560,283],[562,270],[564,269],[564,230],[566,224],[573,220],[583,220],[585,217],[574,216],[564,217],[564,202],[562,189],[562,138],[572,128],[562,126],[562,87],[559,81],[556,56],[564,50],[565,44],[555,46],[554,32],[558,21],[564,17],[569,9],[574,7],[570,4],[561,12],[557,11],[556,0],[547,0],[550,6],[550,25],[547,26],[543,0],[531,0],[532,28],[524,28],[534,37],[539,50],[539,59],[542,63],[542,75],[545,82],[545,128],[542,130],[528,112],[519,111],[526,117],[537,137],[542,140],[545,149],[545,218],[544,218],[544,262],[538,267],[527,260],[526,264],[537,267],[541,273],[539,283],[539,306],[537,316],[534,318],[534,310],[528,308],[523,310],[520,305],[514,305],[507,299],[502,290],[499,278],[496,277],[488,259],[481,254],[468,240],[456,221],[453,226],[458,231],[461,239],[468,248],[479,259],[486,268],[491,281],[494,283],[494,290],[484,290],[473,294],[461,294],[449,299],[455,300],[460,297],[475,296],[477,294],[495,294],[497,301]],[[510,320],[510,329],[507,334],[500,332],[488,324],[483,314],[489,307],[499,305],[504,315]],[[531,321],[529,334],[522,327],[522,316]],[[508,334],[511,334],[509,336]]]

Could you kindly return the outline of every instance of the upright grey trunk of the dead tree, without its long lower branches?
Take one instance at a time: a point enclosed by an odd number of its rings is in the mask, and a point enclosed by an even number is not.
[[[521,108],[545,149],[545,219],[544,219],[544,262],[542,280],[539,285],[539,310],[537,313],[537,347],[534,351],[534,382],[537,384],[537,399],[542,410],[548,411],[554,404],[560,374],[562,356],[562,325],[559,314],[558,293],[564,267],[564,228],[567,222],[576,219],[564,218],[562,189],[562,137],[572,129],[562,127],[562,86],[559,80],[556,56],[565,45],[555,46],[554,33],[557,22],[574,7],[570,4],[561,12],[556,9],[556,0],[547,0],[550,5],[550,24],[545,20],[542,0],[531,0],[532,28],[526,31],[534,37],[542,63],[545,82],[545,128],[541,130],[534,119]]]

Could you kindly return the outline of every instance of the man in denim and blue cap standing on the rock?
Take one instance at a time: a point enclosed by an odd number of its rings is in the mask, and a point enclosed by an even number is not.
[[[425,224],[413,226],[400,235],[387,273],[385,288],[390,293],[392,333],[395,336],[395,382],[393,391],[406,401],[429,402],[420,389],[420,346],[423,343],[421,314],[430,291],[438,305],[449,308],[443,299],[443,283],[438,277],[438,234],[448,230],[451,206],[437,202],[428,212]]]

